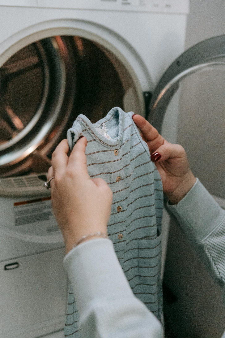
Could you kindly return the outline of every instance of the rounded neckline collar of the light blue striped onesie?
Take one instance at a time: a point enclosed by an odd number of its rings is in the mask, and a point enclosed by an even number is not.
[[[93,138],[108,147],[115,147],[117,145],[120,146],[122,138],[123,138],[123,119],[124,119],[124,112],[121,108],[119,107],[114,107],[112,108],[109,113],[101,120],[97,121],[96,123],[91,123],[91,121],[83,114],[78,115],[77,121],[82,123],[87,130],[90,132],[90,134],[93,136]],[[113,119],[113,117],[118,116],[118,123],[117,123],[117,128],[118,128],[118,136],[116,138],[113,138],[112,140],[109,140],[102,136],[95,128],[100,128],[103,123],[109,122],[110,120]]]

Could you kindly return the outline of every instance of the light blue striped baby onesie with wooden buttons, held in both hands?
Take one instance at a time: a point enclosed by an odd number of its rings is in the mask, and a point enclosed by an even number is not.
[[[113,192],[108,236],[134,294],[160,320],[163,187],[133,114],[115,107],[94,124],[81,114],[67,139],[72,149],[81,135],[87,138],[88,173],[103,178]],[[108,129],[106,137],[96,128]],[[69,283],[65,337],[80,337],[78,322],[76,295]]]

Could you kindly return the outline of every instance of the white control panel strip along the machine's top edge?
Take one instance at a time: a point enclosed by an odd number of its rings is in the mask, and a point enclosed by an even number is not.
[[[0,0],[0,6],[189,13],[189,0]]]

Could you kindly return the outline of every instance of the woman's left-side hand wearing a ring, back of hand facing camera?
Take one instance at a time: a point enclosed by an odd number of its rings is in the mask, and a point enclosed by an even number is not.
[[[51,180],[52,207],[66,252],[83,235],[99,231],[107,234],[111,213],[112,191],[103,179],[89,177],[86,146],[87,139],[83,137],[68,157],[68,143],[63,140],[52,154],[48,171],[48,179],[55,176]]]

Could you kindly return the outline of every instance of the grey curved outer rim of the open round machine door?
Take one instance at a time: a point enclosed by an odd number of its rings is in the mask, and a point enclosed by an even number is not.
[[[225,56],[225,35],[201,41],[182,53],[161,77],[149,105],[148,121],[159,131],[166,109],[179,88],[179,82],[203,68],[224,65],[212,60]]]

